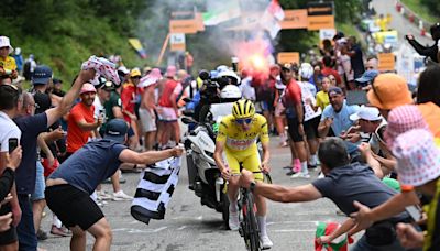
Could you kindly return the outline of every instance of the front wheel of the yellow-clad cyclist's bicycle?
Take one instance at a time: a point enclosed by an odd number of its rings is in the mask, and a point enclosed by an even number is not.
[[[256,216],[255,216],[255,210],[254,210],[254,196],[252,193],[248,192],[246,193],[246,203],[245,203],[245,216],[244,216],[244,221],[246,225],[246,231],[248,231],[248,240],[246,240],[246,245],[248,249],[251,251],[260,251],[260,229],[258,229],[258,223],[256,222]]]

